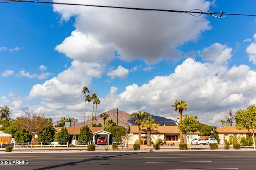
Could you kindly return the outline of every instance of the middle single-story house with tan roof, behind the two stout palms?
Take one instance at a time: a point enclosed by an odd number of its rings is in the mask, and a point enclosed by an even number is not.
[[[130,140],[128,144],[134,144],[139,139],[139,128],[136,125],[129,126]],[[194,138],[198,138],[200,132],[191,133],[189,139],[184,134],[184,143],[188,144]],[[142,139],[147,139],[147,129],[142,128],[141,131]],[[166,144],[174,143],[178,145],[180,143],[180,130],[178,126],[158,126],[156,129],[151,130],[151,140],[156,143],[157,139],[160,138]],[[188,141],[189,140],[189,141]]]

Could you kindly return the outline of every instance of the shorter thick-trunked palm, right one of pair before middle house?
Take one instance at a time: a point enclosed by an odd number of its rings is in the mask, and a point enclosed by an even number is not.
[[[147,146],[151,146],[151,130],[153,128],[158,128],[158,124],[155,123],[155,119],[152,119],[152,116],[148,116],[148,119],[144,118],[143,122],[141,123],[141,128],[147,128]]]

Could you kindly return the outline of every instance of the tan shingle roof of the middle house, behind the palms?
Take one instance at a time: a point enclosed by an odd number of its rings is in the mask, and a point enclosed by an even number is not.
[[[139,133],[138,126],[129,126],[130,133]],[[142,128],[141,130],[142,134],[147,133],[146,128]],[[158,126],[158,128],[151,130],[152,134],[179,134],[180,130],[178,129],[178,126]],[[191,133],[191,134],[200,134],[200,132]]]

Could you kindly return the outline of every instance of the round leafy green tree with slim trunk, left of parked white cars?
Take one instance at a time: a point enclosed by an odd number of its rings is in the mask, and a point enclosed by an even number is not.
[[[191,150],[189,136],[191,133],[199,130],[200,122],[196,120],[197,119],[196,116],[192,116],[192,115],[184,115],[183,118],[184,119],[178,125],[178,129],[180,129],[180,132],[186,134],[186,137],[188,138],[189,149]]]

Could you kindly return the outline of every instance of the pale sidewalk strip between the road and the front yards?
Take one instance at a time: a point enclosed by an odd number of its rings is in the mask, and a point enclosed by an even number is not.
[[[0,153],[60,153],[60,152],[177,152],[177,151],[188,151],[188,150],[179,150],[179,146],[160,146],[160,150],[154,150],[153,146],[148,147],[147,145],[141,145],[140,150],[133,150],[133,145],[128,145],[127,148],[118,147],[119,150],[113,150],[112,145],[96,145],[95,151],[87,151],[87,147],[34,147],[32,152],[31,148],[28,147],[16,147],[12,149],[12,152],[5,152],[4,148],[0,148]],[[108,149],[108,150],[107,150]],[[191,145],[191,151],[209,151],[209,145]],[[218,145],[218,150],[224,150],[224,145]],[[218,151],[211,150],[211,151]],[[234,150],[230,146],[229,150]],[[240,150],[254,150],[253,146],[241,146]]]

